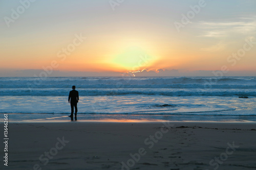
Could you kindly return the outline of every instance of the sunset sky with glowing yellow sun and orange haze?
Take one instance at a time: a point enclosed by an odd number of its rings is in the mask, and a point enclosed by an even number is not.
[[[0,76],[223,66],[256,75],[255,9],[254,0],[0,1]]]

